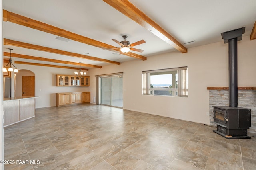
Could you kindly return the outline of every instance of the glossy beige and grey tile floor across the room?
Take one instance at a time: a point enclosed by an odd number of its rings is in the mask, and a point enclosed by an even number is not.
[[[213,129],[102,105],[40,108],[4,128],[5,160],[15,161],[5,169],[256,169],[256,134],[228,140]]]

